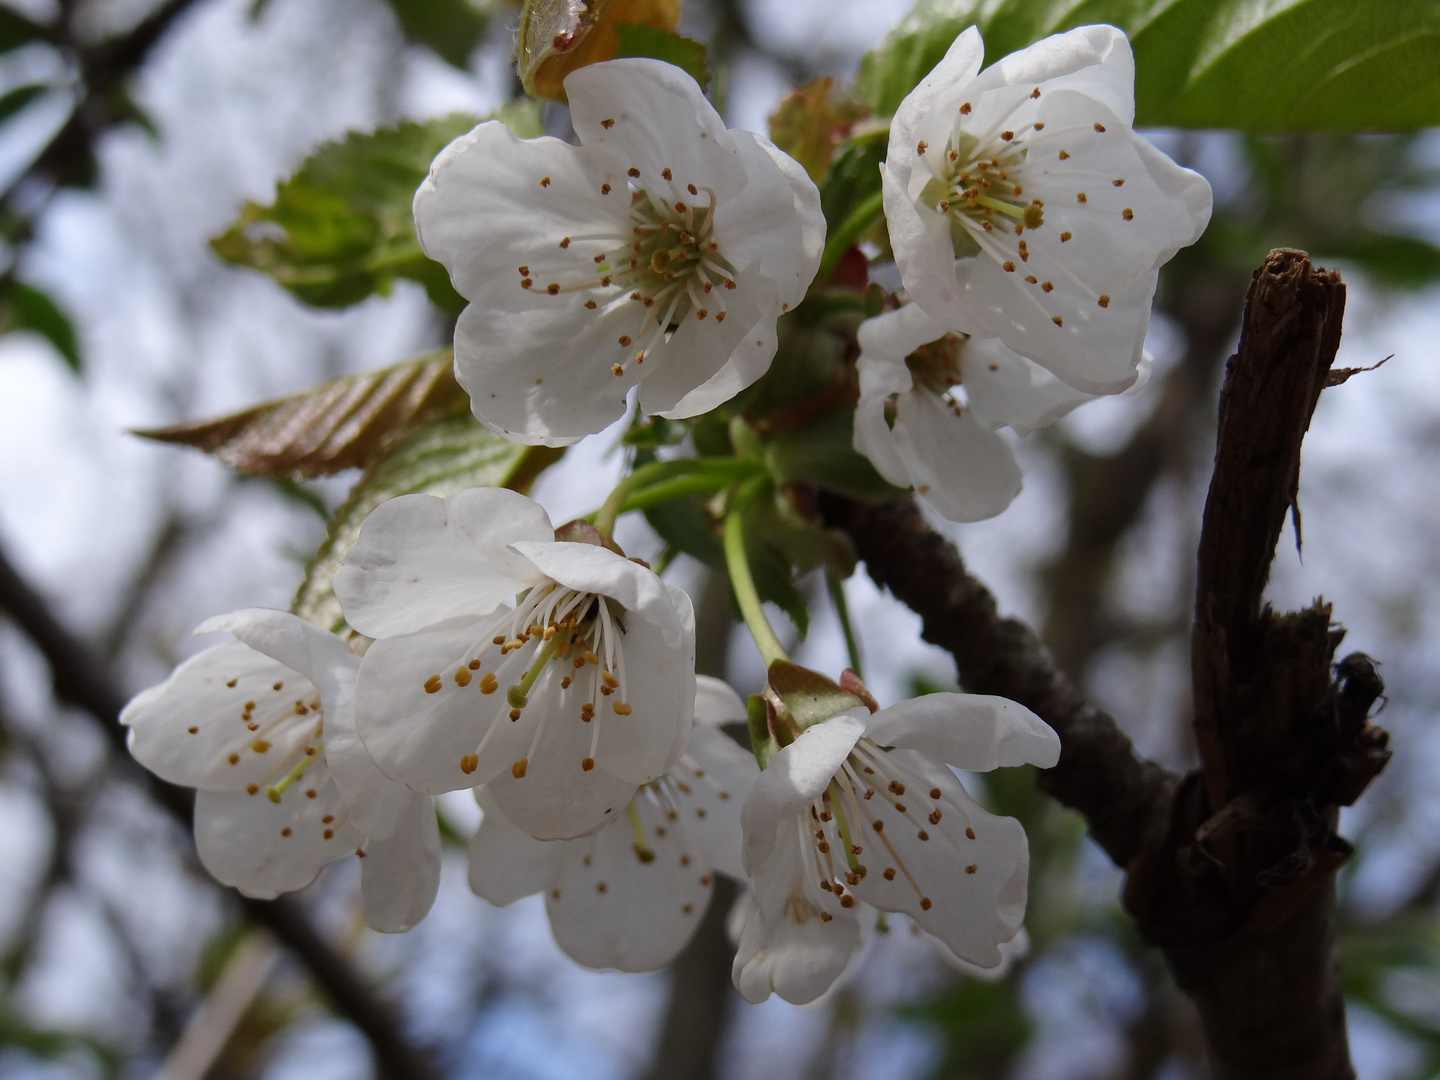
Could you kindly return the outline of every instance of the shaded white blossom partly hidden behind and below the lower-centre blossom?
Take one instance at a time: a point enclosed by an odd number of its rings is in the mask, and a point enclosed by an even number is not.
[[[513,825],[478,788],[485,809],[469,841],[469,884],[494,904],[544,893],[554,939],[588,968],[654,971],[694,935],[714,873],[743,880],[740,806],[757,769],[719,724],[744,721],[730,687],[698,678],[685,755],[641,788],[625,819],[592,837],[543,842]]]

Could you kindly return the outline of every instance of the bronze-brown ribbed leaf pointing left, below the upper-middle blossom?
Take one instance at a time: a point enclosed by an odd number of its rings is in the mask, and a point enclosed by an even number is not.
[[[468,403],[445,348],[229,416],[135,433],[194,446],[240,472],[310,478],[379,461],[408,431]]]

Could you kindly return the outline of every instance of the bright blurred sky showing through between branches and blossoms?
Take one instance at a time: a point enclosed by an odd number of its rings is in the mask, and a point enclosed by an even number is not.
[[[140,7],[138,0],[130,6]],[[396,48],[379,0],[271,0],[258,20],[248,9],[248,0],[209,0],[186,16],[137,88],[163,137],[138,128],[107,137],[101,184],[59,194],[20,265],[24,279],[50,289],[75,314],[85,377],[71,374],[39,338],[0,338],[0,544],[68,626],[107,648],[128,690],[158,681],[176,660],[209,644],[189,636],[204,618],[243,606],[287,606],[324,528],[314,513],[264,484],[239,482],[199,454],[127,432],[393,363],[444,337],[423,295],[408,282],[343,312],[315,311],[261,275],[223,265],[206,239],[243,200],[268,202],[275,181],[317,141],[402,117],[484,112],[508,78],[504,30],[465,73],[423,50]],[[852,69],[903,9],[878,0],[747,4],[780,52],[806,69],[835,72]],[[112,16],[124,10],[112,9]],[[704,33],[703,23],[693,29]],[[42,56],[20,58],[0,71],[0,85],[46,72]],[[759,59],[736,65],[724,78],[730,122],[763,130],[786,78]],[[59,121],[62,98],[58,92],[59,104],[0,130],[0,180]],[[1440,202],[1416,207],[1417,220],[1440,223],[1436,206]],[[1408,749],[1372,796],[1346,812],[1346,828],[1369,829],[1371,841],[1348,888],[1364,910],[1377,913],[1440,854],[1440,799],[1426,782],[1440,762],[1440,736],[1426,723],[1440,706],[1430,644],[1440,639],[1436,341],[1440,291],[1397,300],[1352,282],[1339,366],[1367,366],[1388,354],[1394,360],[1322,397],[1302,474],[1303,552],[1289,534],[1282,540],[1270,593],[1277,606],[1292,608],[1323,593],[1351,631],[1346,648],[1385,661],[1392,697],[1384,723]],[[1151,348],[1158,364],[1172,363],[1171,328],[1158,324]],[[1067,432],[1093,448],[1116,445],[1152,405],[1145,390],[1097,402],[1067,420]],[[541,478],[534,494],[556,521],[592,510],[593,492],[603,490],[599,477],[618,475],[612,442],[613,432],[586,441]],[[1028,573],[1063,543],[1063,503],[1048,451],[1031,439],[1020,452],[1025,490],[1009,511],[973,526],[937,524],[958,539],[1002,609],[1034,621],[1043,608]],[[1197,452],[1208,455],[1205,448]],[[336,503],[344,485],[340,478],[321,490]],[[1164,609],[1176,582],[1191,573],[1202,500],[1202,490],[1156,492],[1129,540],[1125,602],[1136,612]],[[1176,505],[1185,510],[1179,517]],[[1189,531],[1178,531],[1176,520],[1189,523]],[[170,557],[135,608],[134,586],[166,536]],[[639,554],[655,543],[629,520],[619,539]],[[675,575],[683,585],[698,580],[693,564],[677,564]],[[847,585],[847,595],[883,704],[904,697],[916,674],[950,678],[948,657],[917,642],[917,619],[864,575]],[[130,631],[107,641],[122,612],[134,616]],[[732,654],[732,681],[757,683],[759,657],[743,631]],[[840,628],[824,602],[796,660],[828,671],[844,664]],[[1142,753],[1171,765],[1187,753],[1168,720],[1187,691],[1187,664],[1184,655],[1143,667],[1102,657],[1092,687],[1102,706],[1130,724]],[[98,766],[96,736],[84,719],[56,714],[45,687],[33,651],[0,625],[0,708],[35,740],[62,782],[84,785]],[[0,936],[14,932],[46,844],[36,789],[36,778],[23,769],[0,773],[0,864],[10,867],[0,874]],[[144,1018],[134,1015],[125,994],[137,960],[124,955],[109,927],[127,927],[153,979],[183,981],[222,910],[213,890],[194,884],[176,855],[177,837],[154,811],[124,791],[108,791],[105,799],[105,821],[91,822],[81,845],[86,887],[66,890],[46,912],[40,962],[20,996],[36,1021],[124,1043]],[[467,795],[446,796],[444,805],[461,828],[478,821]],[[1087,873],[1097,893],[1117,888],[1119,876],[1103,860]],[[588,1076],[619,1080],[644,1068],[665,975],[575,968],[550,942],[537,903],[487,907],[469,894],[458,858],[446,865],[441,899],[418,930],[403,939],[361,933],[347,914],[354,877],[353,867],[337,864],[311,893],[333,917],[331,929],[356,940],[369,971],[396,973],[422,1034],[454,1038],[477,1005],[485,1005],[456,1074],[559,1079],[585,1063]],[[922,945],[903,937],[891,935],[860,960],[855,994],[874,1021],[847,1056],[845,1076],[900,1080],[923,1074],[933,1061],[935,1045],[922,1030],[884,1015],[891,1002],[943,975]],[[1094,1017],[1136,1009],[1136,988],[1103,946],[1084,945],[1047,963],[1027,981],[1032,1008],[1047,1020],[1025,1080],[1080,1077],[1113,1060],[1113,1032]],[[1057,971],[1064,978],[1056,978]],[[285,965],[276,975],[284,978],[294,979]],[[1057,988],[1077,981],[1092,988],[1093,999],[1063,998]],[[497,996],[501,988],[504,996]],[[724,1047],[726,1076],[798,1071],[812,1045],[827,1038],[825,1020],[822,1009],[779,1001],[744,1009]],[[1377,1034],[1365,1017],[1352,1021],[1352,1031],[1364,1080],[1401,1074],[1403,1044]],[[344,1025],[314,1014],[297,1032],[268,1077],[366,1074],[364,1047]],[[56,1074],[86,1071],[69,1061]]]

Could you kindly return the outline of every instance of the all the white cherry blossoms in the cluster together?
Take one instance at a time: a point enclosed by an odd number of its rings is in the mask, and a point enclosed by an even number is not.
[[[1135,379],[1156,268],[1208,213],[1204,180],[1129,128],[1129,48],[1110,27],[979,72],[962,35],[900,107],[884,200],[912,298],[860,330],[855,445],[949,517],[1020,487],[1001,426],[1048,423]],[[426,252],[471,304],[455,360],[475,415],[563,445],[616,419],[707,412],[766,372],[776,321],[819,265],[804,170],[727,131],[657,60],[583,68],[580,145],[487,122],[415,200]],[[1041,281],[1044,278],[1044,281]],[[405,930],[435,897],[433,795],[474,791],[475,893],[543,893],[590,966],[649,971],[685,945],[716,873],[747,884],[734,981],[812,1001],[874,913],[907,916],[959,963],[1021,932],[1024,829],[955,769],[1048,768],[1058,740],[1001,698],[930,694],[776,724],[694,674],[690,598],[583,521],[556,530],[513,491],[380,505],[334,577],[351,639],[297,616],[204,624],[236,641],[181,664],[121,717],[135,757],[193,786],[206,867],[252,896],[363,857],[367,922]],[[783,717],[782,717],[783,719]]]

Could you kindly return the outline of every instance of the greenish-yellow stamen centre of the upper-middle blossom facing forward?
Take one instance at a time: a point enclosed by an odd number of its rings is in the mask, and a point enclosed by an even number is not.
[[[703,184],[681,187],[670,168],[661,184],[636,183],[638,168],[629,174],[628,187],[615,193],[629,196],[622,222],[560,238],[562,262],[518,268],[520,288],[552,297],[586,292],[585,308],[596,315],[636,305],[634,331],[619,334],[618,354],[606,357],[618,376],[644,363],[685,318],[723,323],[724,291],[736,288],[734,266],[714,240],[716,193]],[[600,192],[609,194],[611,184]]]

